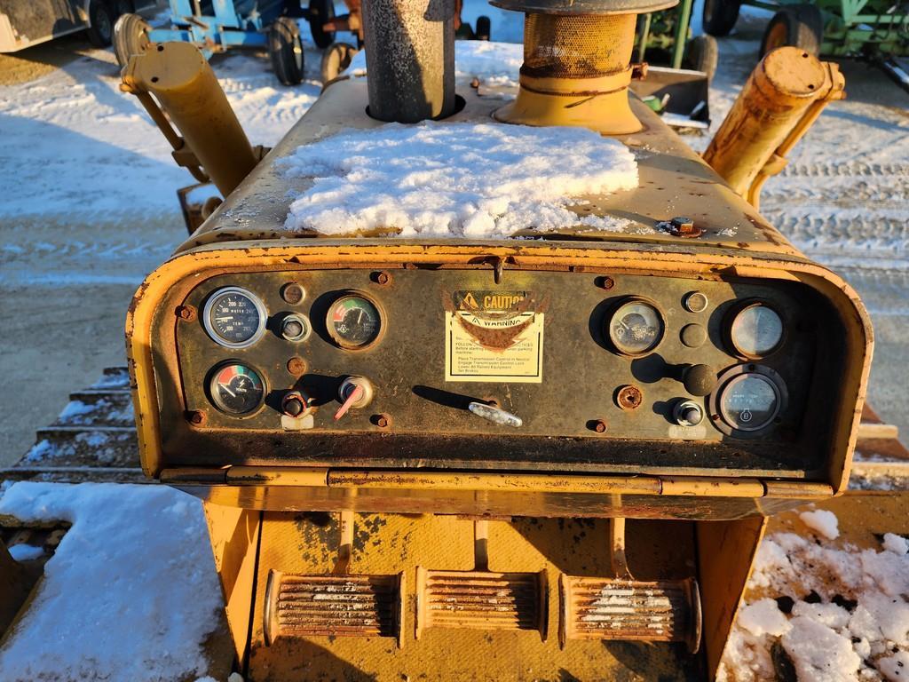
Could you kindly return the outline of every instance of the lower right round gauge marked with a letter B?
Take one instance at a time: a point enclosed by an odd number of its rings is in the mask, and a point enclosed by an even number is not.
[[[763,431],[785,408],[783,378],[769,367],[735,366],[720,376],[719,386],[710,396],[710,409],[722,419],[716,426],[727,434]]]

